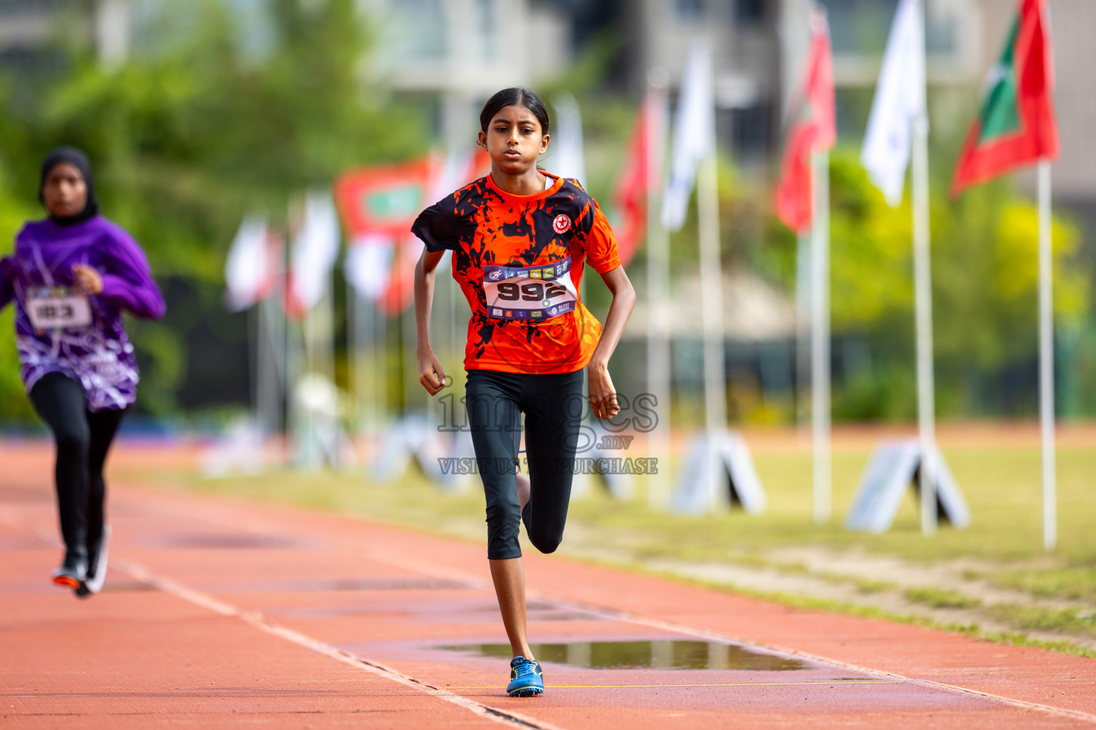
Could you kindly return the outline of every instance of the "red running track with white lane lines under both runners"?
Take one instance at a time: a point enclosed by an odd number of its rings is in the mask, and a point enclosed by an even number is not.
[[[556,661],[510,698],[506,659],[472,650],[505,642],[482,545],[125,485],[107,586],[79,601],[48,582],[49,461],[0,444],[3,727],[1096,726],[1089,659],[540,555],[530,638]],[[717,668],[672,669],[675,640]],[[604,667],[607,641],[653,641],[654,667]]]

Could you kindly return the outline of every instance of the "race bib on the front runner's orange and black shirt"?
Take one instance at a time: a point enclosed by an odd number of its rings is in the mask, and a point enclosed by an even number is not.
[[[484,266],[488,315],[544,322],[573,312],[579,294],[570,271],[570,256],[539,266]]]

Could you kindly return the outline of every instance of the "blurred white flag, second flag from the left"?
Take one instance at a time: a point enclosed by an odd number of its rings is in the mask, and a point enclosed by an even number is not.
[[[331,282],[339,255],[339,217],[327,193],[310,193],[305,200],[305,220],[293,242],[290,296],[301,312],[316,306]]]

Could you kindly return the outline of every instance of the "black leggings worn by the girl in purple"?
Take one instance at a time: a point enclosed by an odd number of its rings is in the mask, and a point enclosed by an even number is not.
[[[88,410],[83,387],[52,372],[31,389],[35,410],[57,442],[57,508],[65,547],[83,552],[103,536],[103,463],[124,410]]]

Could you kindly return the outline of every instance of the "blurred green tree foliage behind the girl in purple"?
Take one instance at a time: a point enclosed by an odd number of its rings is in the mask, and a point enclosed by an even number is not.
[[[262,5],[255,19],[218,0],[159,3],[135,53],[104,69],[77,39],[62,68],[0,86],[0,235],[41,216],[37,167],[58,144],[92,159],[104,215],[128,229],[161,281],[181,279],[197,311],[135,323],[146,362],[141,401],[169,412],[185,376],[187,333],[225,318],[228,243],[243,215],[284,222],[287,201],[339,172],[425,152],[422,117],[365,82],[367,27],[353,0]],[[26,93],[27,86],[33,93]],[[12,390],[10,314],[0,321],[0,418],[23,414]],[[7,364],[5,364],[7,363]],[[18,384],[18,383],[16,383]]]

